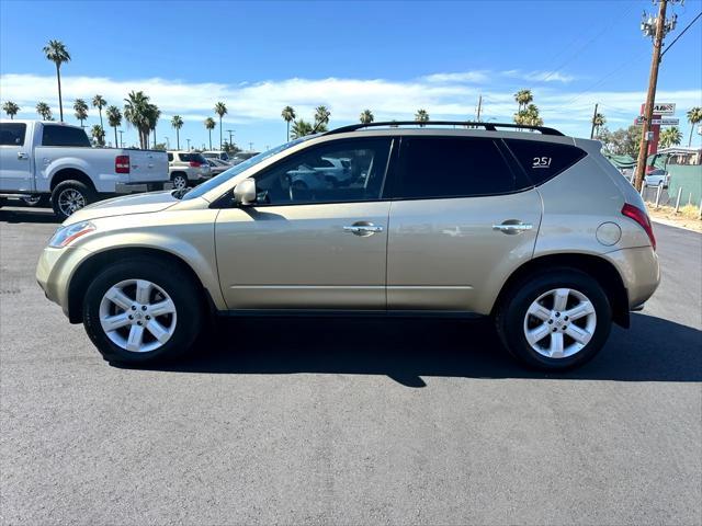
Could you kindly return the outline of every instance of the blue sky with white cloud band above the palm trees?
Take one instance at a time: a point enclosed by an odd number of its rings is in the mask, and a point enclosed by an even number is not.
[[[412,118],[419,107],[433,118],[473,118],[482,94],[485,118],[511,121],[522,88],[533,90],[546,125],[586,136],[596,102],[611,128],[638,112],[652,47],[639,22],[652,9],[649,0],[3,0],[0,99],[19,103],[22,117],[34,118],[39,100],[58,114],[54,67],[42,54],[58,38],[72,56],[61,69],[68,122],[76,98],[101,93],[121,106],[128,91],[144,90],[163,112],[159,141],[174,142],[168,122],[183,116],[181,146],[207,142],[202,122],[219,100],[237,144],[262,149],[285,140],[286,104],[305,119],[326,104],[340,126],[366,107],[378,121]],[[668,42],[701,10],[700,0],[676,7]],[[687,144],[684,112],[702,105],[702,21],[666,55],[658,91],[658,102],[678,104]]]

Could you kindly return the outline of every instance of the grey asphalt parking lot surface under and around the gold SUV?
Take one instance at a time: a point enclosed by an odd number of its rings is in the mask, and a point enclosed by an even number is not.
[[[104,363],[34,281],[48,210],[0,210],[2,524],[700,524],[702,236],[564,375],[489,324],[227,322],[148,370]]]

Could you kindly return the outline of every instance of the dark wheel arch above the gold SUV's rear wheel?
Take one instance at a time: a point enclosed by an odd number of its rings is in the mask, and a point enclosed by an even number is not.
[[[621,327],[629,328],[629,293],[619,271],[603,258],[582,253],[541,255],[518,267],[500,289],[492,307],[492,315],[520,283],[550,268],[574,268],[592,276],[602,286],[610,301],[612,320]]]

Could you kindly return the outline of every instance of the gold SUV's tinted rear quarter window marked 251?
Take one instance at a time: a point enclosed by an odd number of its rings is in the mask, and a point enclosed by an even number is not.
[[[520,139],[506,139],[505,142],[536,186],[573,167],[587,155],[571,145]]]

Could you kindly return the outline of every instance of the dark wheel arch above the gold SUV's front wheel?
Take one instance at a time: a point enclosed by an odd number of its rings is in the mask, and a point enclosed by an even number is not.
[[[68,319],[71,323],[80,323],[82,321],[83,297],[91,283],[91,277],[95,276],[110,262],[124,259],[147,258],[157,261],[168,261],[170,264],[178,265],[186,274],[189,274],[195,284],[200,294],[200,300],[204,308],[208,311],[216,310],[212,296],[200,279],[193,267],[182,258],[160,249],[147,247],[121,247],[97,252],[76,270],[68,284]]]

